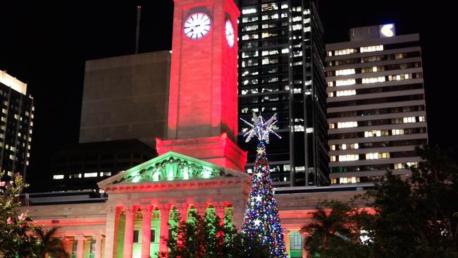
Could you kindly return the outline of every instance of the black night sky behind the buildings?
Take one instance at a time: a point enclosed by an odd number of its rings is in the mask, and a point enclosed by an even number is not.
[[[453,1],[428,3],[321,0],[318,9],[326,43],[347,41],[349,27],[365,25],[395,23],[397,35],[420,33],[429,142],[456,157],[456,8]],[[171,49],[172,0],[2,1],[0,69],[26,82],[36,103],[27,172],[34,190],[47,190],[44,174],[56,147],[78,143],[85,60],[134,53],[137,5],[140,52]]]

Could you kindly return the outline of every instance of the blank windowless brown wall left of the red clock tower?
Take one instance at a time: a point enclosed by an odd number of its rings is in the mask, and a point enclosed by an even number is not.
[[[80,143],[138,139],[155,147],[167,126],[171,52],[86,62]]]

